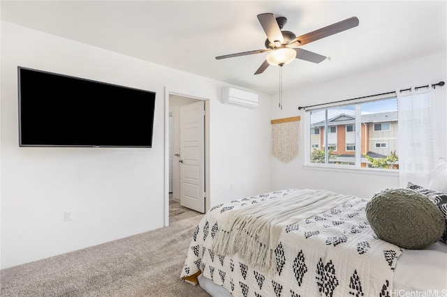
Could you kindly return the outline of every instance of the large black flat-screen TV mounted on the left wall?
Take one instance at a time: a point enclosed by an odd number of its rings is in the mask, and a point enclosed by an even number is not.
[[[155,93],[18,67],[19,146],[152,147]]]

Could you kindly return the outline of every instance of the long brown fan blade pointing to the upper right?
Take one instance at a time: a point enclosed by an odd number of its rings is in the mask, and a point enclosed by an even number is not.
[[[305,45],[307,43],[312,43],[318,39],[325,38],[331,36],[333,34],[351,29],[355,26],[358,26],[358,18],[350,17],[349,19],[337,22],[335,24],[331,24],[329,26],[325,26],[324,28],[312,31],[302,36],[298,36],[294,40],[292,40],[288,45]],[[293,44],[296,43],[296,44]]]

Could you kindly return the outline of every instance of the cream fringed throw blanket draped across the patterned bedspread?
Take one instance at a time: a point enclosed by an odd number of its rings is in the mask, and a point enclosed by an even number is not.
[[[352,199],[323,190],[301,190],[222,214],[212,251],[236,252],[254,268],[276,271],[275,249],[286,227]]]

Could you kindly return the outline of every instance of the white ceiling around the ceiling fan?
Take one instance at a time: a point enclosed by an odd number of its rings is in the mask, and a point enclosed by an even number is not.
[[[446,52],[446,1],[3,1],[1,20],[106,50],[277,93],[279,67],[254,72],[265,54],[215,56],[264,49],[256,15],[287,17],[296,36],[356,16],[359,26],[302,45],[321,63],[295,59],[283,68],[283,88]]]

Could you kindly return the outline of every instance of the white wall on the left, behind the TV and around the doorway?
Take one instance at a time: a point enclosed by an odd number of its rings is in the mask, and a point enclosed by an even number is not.
[[[19,148],[17,66],[155,91],[153,147]],[[1,268],[163,226],[166,86],[210,98],[211,204],[270,190],[268,96],[222,105],[227,84],[1,23]]]

